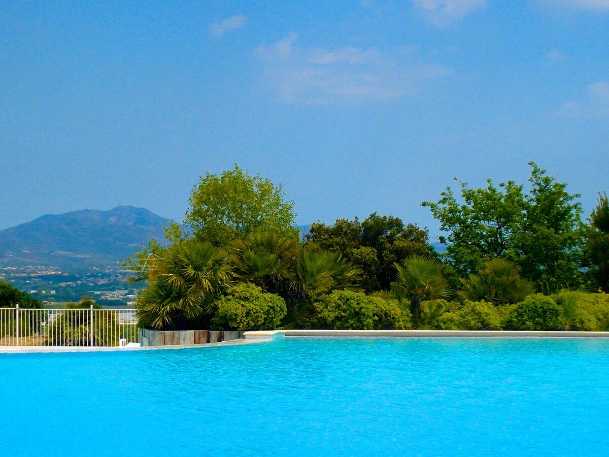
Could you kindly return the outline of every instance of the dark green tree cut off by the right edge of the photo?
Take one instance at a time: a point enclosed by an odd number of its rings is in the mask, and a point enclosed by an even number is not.
[[[609,199],[600,195],[590,216],[586,238],[586,257],[596,286],[609,292]]]

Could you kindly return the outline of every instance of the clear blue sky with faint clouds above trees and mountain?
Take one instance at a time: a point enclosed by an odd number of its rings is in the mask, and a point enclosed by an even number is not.
[[[537,161],[609,191],[609,0],[2,2],[0,228],[199,175],[283,184],[299,224],[437,223],[453,177]]]

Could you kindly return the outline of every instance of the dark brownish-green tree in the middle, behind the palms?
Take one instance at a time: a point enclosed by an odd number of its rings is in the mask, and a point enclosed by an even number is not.
[[[395,280],[393,263],[412,255],[435,255],[426,229],[393,216],[370,214],[360,222],[337,219],[333,226],[312,224],[306,246],[340,252],[362,271],[362,288],[368,293],[389,289]]]

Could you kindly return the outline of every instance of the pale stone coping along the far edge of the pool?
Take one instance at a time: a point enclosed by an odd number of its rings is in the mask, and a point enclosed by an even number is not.
[[[516,330],[256,330],[244,338],[208,344],[174,344],[147,347],[53,347],[0,346],[0,353],[108,352],[236,346],[280,338],[609,338],[609,331],[516,331]]]

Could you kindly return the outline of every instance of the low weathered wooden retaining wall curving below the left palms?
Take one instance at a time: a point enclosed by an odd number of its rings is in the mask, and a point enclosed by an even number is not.
[[[177,344],[208,344],[232,341],[243,337],[242,331],[234,330],[140,330],[142,346],[170,346]]]

